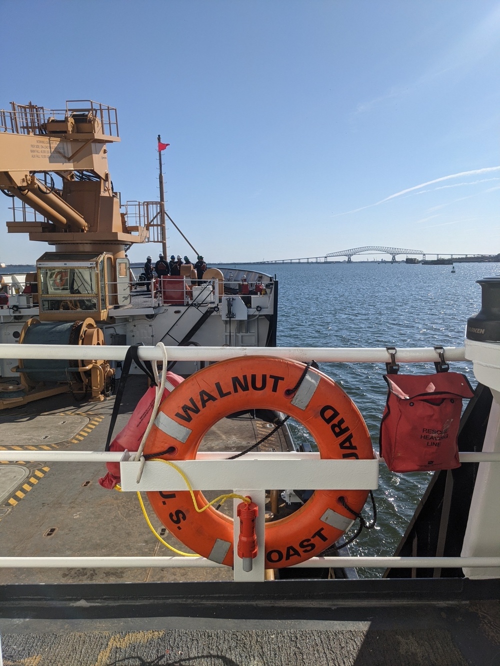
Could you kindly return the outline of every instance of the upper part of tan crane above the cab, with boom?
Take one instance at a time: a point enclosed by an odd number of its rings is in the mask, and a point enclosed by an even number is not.
[[[7,222],[9,233],[28,232],[59,252],[84,244],[85,251],[115,257],[147,241],[147,226],[127,225],[113,191],[107,144],[115,141],[116,109],[93,101],[68,101],[61,111],[12,102],[11,111],[0,111],[0,188],[22,203],[21,220],[18,213]],[[30,208],[41,220],[30,217]]]

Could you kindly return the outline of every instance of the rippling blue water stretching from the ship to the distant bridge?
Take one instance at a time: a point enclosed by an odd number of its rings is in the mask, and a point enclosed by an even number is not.
[[[500,264],[455,264],[454,274],[451,266],[387,262],[263,265],[261,270],[275,270],[279,280],[279,346],[447,347],[463,346],[466,320],[481,307],[475,280],[500,274]],[[385,365],[332,363],[320,368],[357,404],[378,450],[387,396]],[[471,364],[453,363],[451,370],[467,374],[473,386],[477,383]],[[435,368],[408,364],[400,372],[431,374]],[[298,424],[294,434],[308,435]],[[382,465],[375,491],[377,527],[363,531],[351,552],[392,555],[430,478],[427,473],[392,474]]]

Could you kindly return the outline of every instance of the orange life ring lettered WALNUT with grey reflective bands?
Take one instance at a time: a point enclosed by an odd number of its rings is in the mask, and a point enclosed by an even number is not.
[[[205,433],[229,414],[247,409],[285,412],[311,433],[321,458],[373,458],[363,417],[328,376],[309,368],[298,390],[304,365],[253,356],[222,361],[187,378],[161,404],[145,444],[145,454],[171,449],[165,460],[193,460]],[[221,480],[221,489],[224,482]],[[209,507],[197,513],[187,491],[148,492],[155,513],[167,529],[199,555],[233,565],[233,519]],[[195,491],[198,505],[207,504]],[[298,511],[265,526],[265,566],[285,567],[319,555],[353,523],[367,490],[316,490]]]

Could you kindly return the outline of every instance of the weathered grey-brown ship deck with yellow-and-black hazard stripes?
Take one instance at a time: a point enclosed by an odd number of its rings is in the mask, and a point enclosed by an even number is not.
[[[115,432],[143,390],[131,376]],[[103,450],[112,409],[113,399],[63,394],[0,414],[1,447],[23,459],[0,464],[2,555],[168,554],[133,494],[99,486],[100,464],[29,462],[29,450]],[[226,419],[204,444],[237,450],[268,432]],[[283,432],[266,444],[289,446]],[[483,666],[500,660],[499,599],[497,580],[233,583],[229,569],[1,569],[0,639],[4,663],[25,666]]]

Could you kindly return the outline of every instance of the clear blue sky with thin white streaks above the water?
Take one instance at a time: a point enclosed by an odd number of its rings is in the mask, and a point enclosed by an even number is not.
[[[497,1],[0,6],[0,108],[117,107],[122,200],[157,198],[160,133],[167,210],[209,262],[500,251]],[[47,249],[0,228],[6,263]]]

